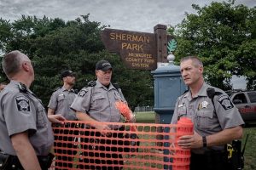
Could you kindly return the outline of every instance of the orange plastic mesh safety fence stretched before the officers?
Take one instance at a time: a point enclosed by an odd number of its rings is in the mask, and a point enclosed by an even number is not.
[[[98,130],[104,125],[110,130]],[[137,132],[130,131],[132,126]],[[175,144],[178,136],[193,133],[189,122],[66,122],[55,126],[54,132],[55,169],[189,170],[190,151]]]

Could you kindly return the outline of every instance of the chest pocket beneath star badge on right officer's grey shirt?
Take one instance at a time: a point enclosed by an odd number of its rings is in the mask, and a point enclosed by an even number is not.
[[[201,110],[196,112],[196,125],[201,129],[212,129],[213,112]]]

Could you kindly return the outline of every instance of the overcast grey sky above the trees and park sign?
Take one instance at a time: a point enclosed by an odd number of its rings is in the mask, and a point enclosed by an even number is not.
[[[223,2],[218,0],[215,2]],[[18,20],[21,14],[42,18],[75,20],[80,15],[90,14],[90,21],[126,31],[154,32],[158,24],[176,26],[185,18],[185,13],[195,14],[192,4],[201,7],[211,0],[0,0],[0,18]],[[256,0],[236,0],[249,8]]]

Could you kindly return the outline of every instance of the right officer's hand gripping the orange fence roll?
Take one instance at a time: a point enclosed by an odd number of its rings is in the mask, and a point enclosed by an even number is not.
[[[183,149],[201,148],[201,135],[194,132],[193,135],[184,135],[177,140],[177,144]]]

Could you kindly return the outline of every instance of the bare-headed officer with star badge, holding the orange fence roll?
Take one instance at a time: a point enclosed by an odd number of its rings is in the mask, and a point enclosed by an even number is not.
[[[191,149],[190,170],[230,169],[224,144],[241,139],[244,122],[240,113],[223,90],[204,82],[198,57],[181,59],[180,71],[189,91],[177,99],[172,124],[183,116],[194,122],[194,135],[177,141],[183,149]]]

